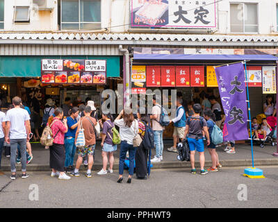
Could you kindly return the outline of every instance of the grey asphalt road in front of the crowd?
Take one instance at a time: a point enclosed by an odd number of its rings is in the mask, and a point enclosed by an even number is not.
[[[242,176],[243,168],[222,169],[201,176],[188,170],[153,170],[149,180],[117,184],[117,172],[69,181],[49,172],[28,172],[29,178],[0,176],[0,207],[278,207],[278,168],[261,167],[265,179]],[[84,172],[85,173],[85,172]],[[125,172],[126,173],[126,172]],[[38,185],[38,196],[30,186]],[[238,200],[238,185],[247,188],[247,200]],[[33,193],[31,193],[33,192]],[[30,194],[31,193],[31,194]],[[241,193],[240,193],[241,194]],[[29,200],[38,198],[38,200]]]

